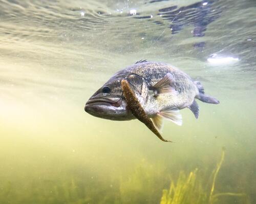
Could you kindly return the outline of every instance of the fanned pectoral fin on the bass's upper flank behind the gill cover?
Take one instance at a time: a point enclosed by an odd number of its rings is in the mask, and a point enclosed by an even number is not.
[[[157,90],[157,94],[169,94],[175,93],[176,90],[172,87],[175,79],[174,76],[170,73],[167,73],[164,78],[157,82],[153,87]]]

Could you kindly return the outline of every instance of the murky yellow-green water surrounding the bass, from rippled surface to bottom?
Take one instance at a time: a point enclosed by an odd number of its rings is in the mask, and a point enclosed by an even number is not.
[[[1,204],[256,203],[255,0],[0,0],[0,20]],[[141,59],[220,104],[165,121],[175,143],[84,111]]]

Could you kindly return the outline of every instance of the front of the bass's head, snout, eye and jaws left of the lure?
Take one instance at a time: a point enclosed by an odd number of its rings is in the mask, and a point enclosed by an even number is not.
[[[90,115],[109,120],[131,120],[126,109],[120,79],[111,79],[87,101],[84,110]]]

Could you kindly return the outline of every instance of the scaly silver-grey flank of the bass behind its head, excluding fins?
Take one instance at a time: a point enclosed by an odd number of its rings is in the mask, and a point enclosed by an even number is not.
[[[139,66],[136,66],[136,64],[133,65],[129,71],[143,77],[148,87],[154,86],[167,73],[174,76],[175,82],[172,85],[177,91],[175,94],[169,93],[158,98],[153,97],[144,104],[143,108],[150,116],[168,107],[184,108],[185,106],[189,106],[198,94],[193,80],[172,65],[158,62],[143,62]]]

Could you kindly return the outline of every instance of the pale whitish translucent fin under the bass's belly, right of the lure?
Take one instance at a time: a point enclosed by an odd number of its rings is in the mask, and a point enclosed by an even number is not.
[[[157,115],[170,120],[177,125],[182,125],[182,116],[180,114],[180,110],[176,107],[161,110]]]

